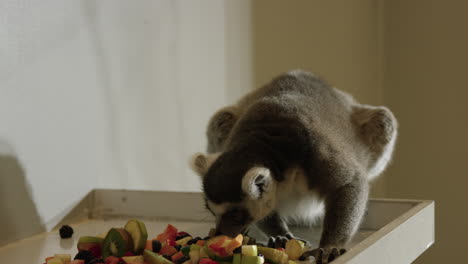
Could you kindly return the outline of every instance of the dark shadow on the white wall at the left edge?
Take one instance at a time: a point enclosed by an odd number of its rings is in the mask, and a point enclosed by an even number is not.
[[[45,231],[25,176],[12,147],[0,139],[0,246]]]

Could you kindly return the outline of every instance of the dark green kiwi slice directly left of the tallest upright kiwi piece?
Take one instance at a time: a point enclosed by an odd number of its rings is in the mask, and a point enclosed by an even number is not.
[[[121,228],[111,228],[104,239],[102,246],[102,257],[106,259],[109,256],[122,257],[128,251],[130,235]]]

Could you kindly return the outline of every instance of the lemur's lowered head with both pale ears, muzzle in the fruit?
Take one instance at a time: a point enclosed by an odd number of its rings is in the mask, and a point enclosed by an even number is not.
[[[243,233],[275,207],[276,181],[265,166],[229,153],[197,153],[191,165],[202,179],[206,208],[216,217],[218,233]]]

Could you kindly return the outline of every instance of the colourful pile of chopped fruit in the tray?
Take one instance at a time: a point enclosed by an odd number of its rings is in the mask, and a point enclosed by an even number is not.
[[[147,239],[145,224],[130,220],[124,228],[111,228],[105,238],[80,237],[73,260],[69,254],[56,254],[45,264],[296,264],[305,250],[295,239],[285,248],[271,248],[252,245],[254,239],[241,234],[192,237],[172,225]]]

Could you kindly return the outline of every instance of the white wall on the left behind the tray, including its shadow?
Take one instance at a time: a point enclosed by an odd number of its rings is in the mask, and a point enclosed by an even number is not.
[[[249,34],[224,31],[248,27],[238,3],[0,2],[0,236],[54,226],[96,187],[198,190],[209,115],[242,93],[227,80],[251,84]]]

